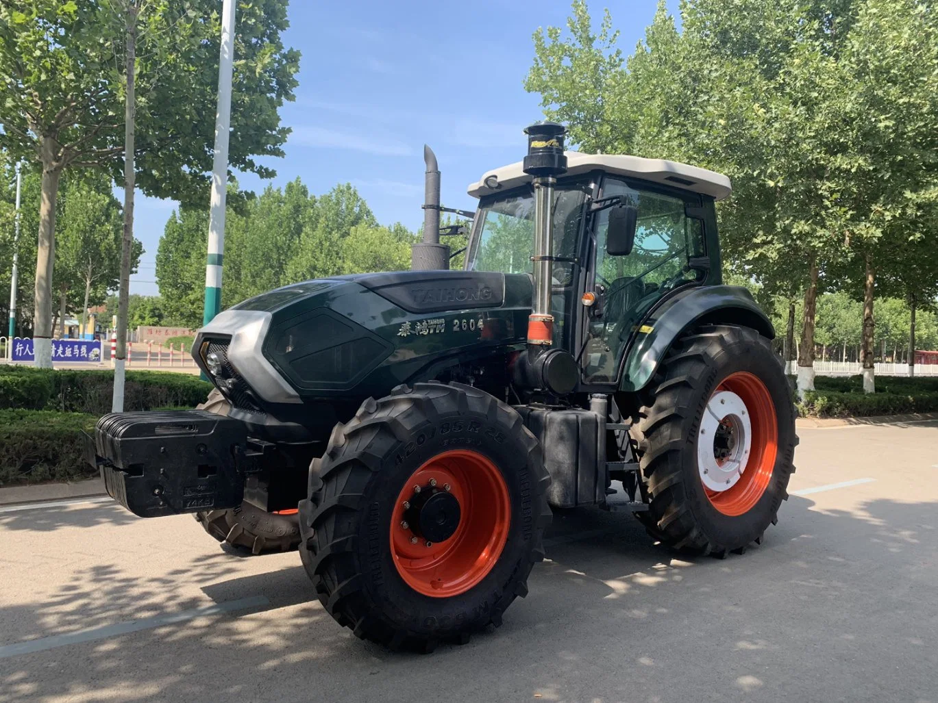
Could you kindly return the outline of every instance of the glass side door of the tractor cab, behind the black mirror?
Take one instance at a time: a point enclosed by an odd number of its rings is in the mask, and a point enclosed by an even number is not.
[[[673,194],[607,177],[601,197],[626,196],[638,208],[635,246],[628,256],[606,253],[609,210],[595,222],[595,290],[602,291],[603,310],[587,322],[580,363],[586,383],[612,383],[632,333],[664,296],[703,280],[691,260],[705,255],[703,220],[688,217],[699,196]],[[601,288],[600,288],[601,287]]]

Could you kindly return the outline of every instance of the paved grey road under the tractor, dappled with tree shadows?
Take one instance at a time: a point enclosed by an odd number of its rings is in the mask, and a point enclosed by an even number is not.
[[[226,554],[189,516],[0,509],[0,701],[938,699],[938,423],[800,434],[763,546],[684,561],[576,511],[502,628],[428,656],[360,642],[295,553]]]

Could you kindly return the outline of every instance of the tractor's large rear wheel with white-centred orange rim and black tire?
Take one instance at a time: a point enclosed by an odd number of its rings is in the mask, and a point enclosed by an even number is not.
[[[794,473],[794,403],[768,339],[708,325],[679,339],[633,424],[649,510],[666,546],[725,556],[762,541]]]

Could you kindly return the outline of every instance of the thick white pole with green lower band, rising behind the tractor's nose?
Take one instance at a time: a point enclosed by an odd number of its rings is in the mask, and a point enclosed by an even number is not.
[[[215,113],[215,159],[212,163],[212,203],[208,217],[203,324],[211,322],[221,310],[221,259],[225,249],[225,195],[228,186],[228,132],[231,128],[233,65],[234,0],[224,0],[221,5],[219,105]]]

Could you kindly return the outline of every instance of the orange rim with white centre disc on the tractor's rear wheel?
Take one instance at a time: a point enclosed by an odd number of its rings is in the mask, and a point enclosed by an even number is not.
[[[707,499],[726,516],[749,512],[771,484],[778,454],[779,424],[764,382],[731,374],[707,401],[697,439]]]

